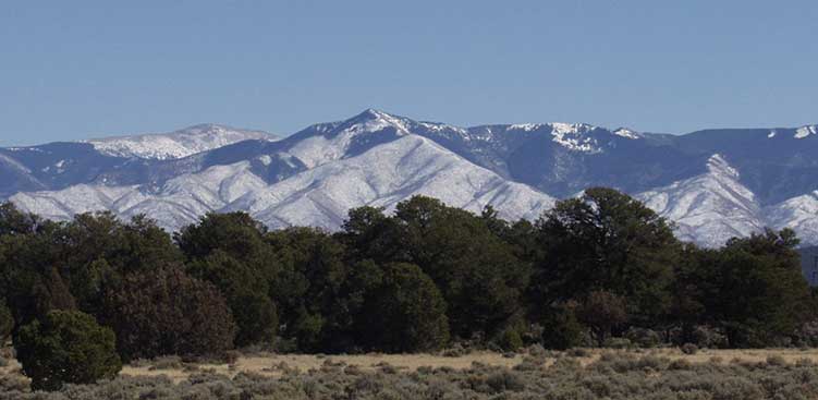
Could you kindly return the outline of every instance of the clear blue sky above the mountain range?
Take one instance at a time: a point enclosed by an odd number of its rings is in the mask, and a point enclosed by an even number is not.
[[[818,122],[818,1],[4,1],[0,146],[374,107],[682,133]]]

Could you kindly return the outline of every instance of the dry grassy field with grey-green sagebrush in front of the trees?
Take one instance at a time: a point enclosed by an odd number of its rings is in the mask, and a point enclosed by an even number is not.
[[[227,363],[137,361],[120,378],[30,393],[0,367],[0,399],[818,399],[818,350],[679,349],[500,354],[255,353]],[[343,396],[341,396],[343,395]],[[500,396],[500,397],[497,397]]]

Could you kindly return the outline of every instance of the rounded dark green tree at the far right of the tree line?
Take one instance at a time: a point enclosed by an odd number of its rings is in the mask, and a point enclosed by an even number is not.
[[[808,317],[810,290],[792,230],[732,239],[687,277],[698,288],[701,319],[725,329],[732,347],[780,344]]]

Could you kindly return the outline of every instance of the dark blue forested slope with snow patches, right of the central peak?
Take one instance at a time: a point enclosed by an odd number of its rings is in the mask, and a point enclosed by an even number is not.
[[[661,145],[664,135],[623,128],[527,123],[467,129],[445,125],[415,132],[506,179],[559,197],[599,185],[636,193],[704,170],[691,162],[700,156]],[[674,168],[666,168],[671,163]]]

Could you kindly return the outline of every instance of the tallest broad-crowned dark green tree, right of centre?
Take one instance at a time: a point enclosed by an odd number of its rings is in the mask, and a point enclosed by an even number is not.
[[[533,304],[582,299],[593,291],[623,296],[635,323],[668,312],[680,243],[672,227],[626,194],[591,187],[558,202],[537,222],[544,249]]]

